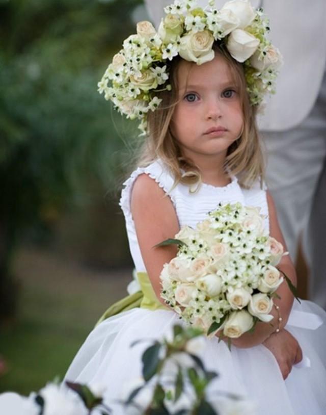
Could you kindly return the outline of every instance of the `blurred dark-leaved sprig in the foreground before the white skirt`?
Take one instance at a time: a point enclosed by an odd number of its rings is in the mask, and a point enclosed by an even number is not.
[[[155,341],[149,346],[142,356],[144,383],[131,392],[124,404],[126,406],[139,406],[137,404],[138,394],[148,385],[152,385],[151,402],[146,408],[139,408],[140,413],[169,414],[171,413],[167,409],[169,401],[176,404],[182,396],[191,394],[192,398],[188,402],[190,406],[179,409],[175,415],[187,413],[193,415],[202,415],[204,413],[207,415],[218,415],[206,400],[207,386],[217,374],[207,371],[200,357],[187,351],[188,342],[202,334],[202,330],[175,325],[171,341]],[[131,347],[139,343],[139,341],[134,342]],[[187,368],[182,363],[182,360],[178,363],[180,355],[187,355],[190,361],[193,361],[193,365]],[[169,380],[169,370],[166,369],[169,367],[168,362],[177,367],[177,373],[171,381]]]

